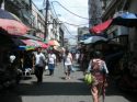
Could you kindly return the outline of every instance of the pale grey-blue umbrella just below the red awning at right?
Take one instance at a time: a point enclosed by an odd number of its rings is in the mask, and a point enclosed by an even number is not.
[[[96,43],[99,41],[103,41],[103,42],[106,42],[107,38],[105,37],[102,37],[102,36],[91,36],[89,37],[88,39],[84,39],[84,44],[91,44],[91,43]]]

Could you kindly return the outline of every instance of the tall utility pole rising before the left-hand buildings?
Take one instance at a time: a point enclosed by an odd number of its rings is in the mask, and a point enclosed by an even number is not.
[[[45,5],[46,4],[46,5]],[[44,0],[44,5],[45,5],[45,34],[44,34],[44,39],[46,39],[46,37],[48,36],[48,8],[49,8],[49,1],[48,0]]]

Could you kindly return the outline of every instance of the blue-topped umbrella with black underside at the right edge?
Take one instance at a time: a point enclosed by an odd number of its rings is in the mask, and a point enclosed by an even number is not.
[[[127,27],[137,26],[137,14],[124,12],[113,19],[113,25],[123,25]]]

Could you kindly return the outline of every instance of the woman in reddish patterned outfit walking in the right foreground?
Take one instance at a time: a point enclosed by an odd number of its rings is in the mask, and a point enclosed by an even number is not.
[[[109,73],[105,61],[102,59],[101,52],[95,52],[89,63],[88,71],[93,76],[94,81],[91,83],[91,93],[93,102],[100,102],[101,90],[105,87],[106,75]]]

